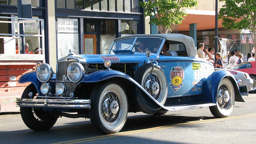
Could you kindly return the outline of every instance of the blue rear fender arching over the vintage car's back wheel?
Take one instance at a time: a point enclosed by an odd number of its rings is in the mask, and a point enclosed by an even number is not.
[[[213,102],[215,104],[217,103],[216,97],[218,92],[218,86],[223,78],[228,78],[232,82],[235,92],[235,101],[245,102],[242,98],[242,95],[240,94],[236,78],[234,78],[234,76],[226,70],[217,70],[210,74],[210,76],[208,76],[202,92],[202,102]]]

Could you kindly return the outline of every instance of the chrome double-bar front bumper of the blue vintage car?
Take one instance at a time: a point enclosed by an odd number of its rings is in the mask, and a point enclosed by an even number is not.
[[[61,100],[61,99],[26,99],[19,98],[16,104],[20,107],[33,108],[69,108],[90,109],[90,100]]]

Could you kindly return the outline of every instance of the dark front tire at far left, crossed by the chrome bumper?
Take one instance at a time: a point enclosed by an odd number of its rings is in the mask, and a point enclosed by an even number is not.
[[[32,98],[35,98],[37,91],[33,84],[28,85],[21,98],[30,98],[28,94],[32,92]],[[20,107],[20,114],[23,122],[34,131],[48,130],[54,126],[57,117],[51,116],[48,112],[43,111],[42,108],[26,108]]]

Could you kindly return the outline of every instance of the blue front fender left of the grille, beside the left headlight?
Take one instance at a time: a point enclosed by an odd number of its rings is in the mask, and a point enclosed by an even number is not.
[[[54,78],[56,78],[56,74],[53,74],[52,76],[52,80],[55,80]],[[26,74],[23,74],[19,81],[20,84],[26,83],[26,82],[31,82],[32,84],[34,84],[34,86],[36,87],[36,90],[38,92],[39,95],[42,95],[42,92],[40,90],[41,85],[43,84],[42,82],[40,82],[36,76],[36,71],[33,72],[28,72]],[[52,88],[55,88],[52,87]]]

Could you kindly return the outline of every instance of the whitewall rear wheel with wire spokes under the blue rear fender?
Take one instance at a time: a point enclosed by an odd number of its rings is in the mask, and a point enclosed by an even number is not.
[[[210,106],[212,115],[216,118],[226,118],[230,116],[235,103],[235,92],[232,82],[228,78],[220,81],[217,91],[217,104]]]

